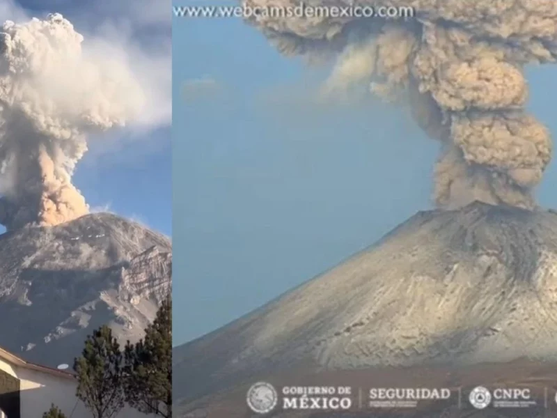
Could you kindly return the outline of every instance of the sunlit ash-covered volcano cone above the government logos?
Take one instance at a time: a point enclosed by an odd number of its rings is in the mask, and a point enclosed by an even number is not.
[[[553,212],[478,202],[419,212],[338,267],[175,348],[175,398],[302,366],[554,359],[556,303]]]

